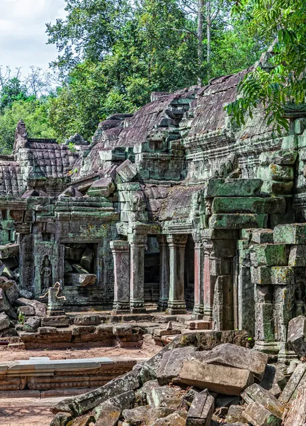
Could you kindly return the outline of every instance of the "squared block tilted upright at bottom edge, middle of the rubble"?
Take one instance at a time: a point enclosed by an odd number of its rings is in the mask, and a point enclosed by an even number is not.
[[[197,393],[188,411],[186,426],[210,426],[214,410],[215,398],[208,391]]]

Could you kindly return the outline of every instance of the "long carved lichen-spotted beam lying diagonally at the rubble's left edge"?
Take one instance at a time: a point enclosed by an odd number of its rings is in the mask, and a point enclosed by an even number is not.
[[[135,391],[138,388],[140,388],[140,378],[137,375],[137,371],[130,371],[130,373],[106,383],[101,388],[80,395],[74,398],[72,402],[69,401],[69,409],[72,410],[75,416],[79,416],[92,410],[109,398],[128,391]]]

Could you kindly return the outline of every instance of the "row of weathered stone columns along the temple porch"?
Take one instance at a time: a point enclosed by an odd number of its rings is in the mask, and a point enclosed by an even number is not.
[[[186,313],[184,295],[185,246],[187,235],[161,235],[159,239],[159,309],[171,315]],[[195,305],[193,317],[211,320],[213,282],[209,244],[195,240]],[[117,313],[145,312],[144,265],[147,235],[131,234],[128,241],[112,241],[115,286],[113,310]]]

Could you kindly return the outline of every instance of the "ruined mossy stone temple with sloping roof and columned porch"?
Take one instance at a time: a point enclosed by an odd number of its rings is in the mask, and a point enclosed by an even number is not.
[[[73,149],[19,122],[0,156],[6,275],[35,298],[60,282],[67,312],[188,310],[285,355],[306,313],[306,112],[288,105],[288,134],[261,109],[237,127],[224,106],[247,71],[154,93]]]

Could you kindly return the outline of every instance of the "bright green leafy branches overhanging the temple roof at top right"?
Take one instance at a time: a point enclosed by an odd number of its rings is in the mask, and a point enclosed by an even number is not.
[[[304,0],[238,0],[236,16],[251,14],[249,31],[266,42],[275,40],[271,58],[263,67],[246,75],[239,84],[241,95],[226,109],[237,124],[244,124],[244,114],[252,114],[259,105],[266,112],[266,121],[278,133],[289,128],[283,116],[287,102],[301,105],[306,94],[306,3]]]

